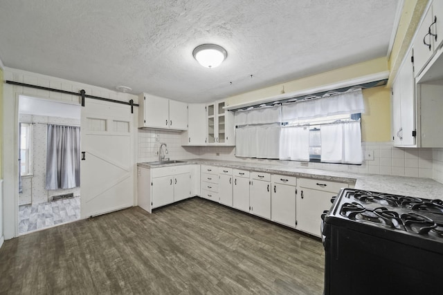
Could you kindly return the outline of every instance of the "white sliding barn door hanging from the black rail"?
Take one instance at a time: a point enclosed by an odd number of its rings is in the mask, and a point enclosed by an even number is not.
[[[133,206],[134,114],[130,106],[86,99],[81,124],[81,218]]]

